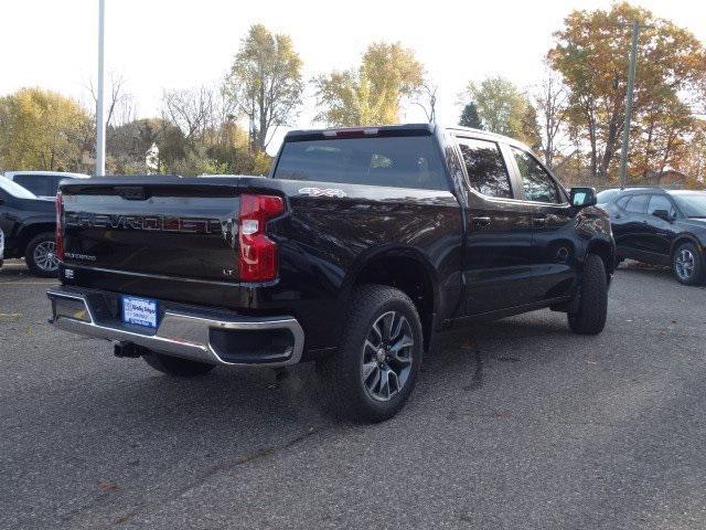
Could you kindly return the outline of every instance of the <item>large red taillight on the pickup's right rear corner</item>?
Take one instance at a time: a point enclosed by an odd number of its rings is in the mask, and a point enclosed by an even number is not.
[[[269,282],[277,277],[277,244],[267,237],[267,221],[284,211],[285,202],[280,197],[240,195],[240,282]]]

